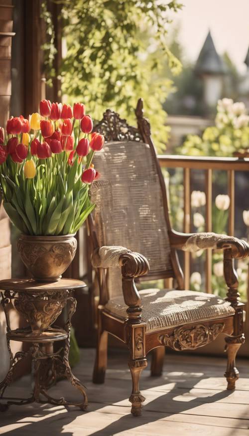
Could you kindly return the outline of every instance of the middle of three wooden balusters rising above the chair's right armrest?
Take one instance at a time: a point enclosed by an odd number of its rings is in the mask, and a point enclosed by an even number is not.
[[[205,174],[206,192],[206,232],[212,232],[212,169],[207,169]],[[212,250],[206,250],[206,292],[212,293]]]

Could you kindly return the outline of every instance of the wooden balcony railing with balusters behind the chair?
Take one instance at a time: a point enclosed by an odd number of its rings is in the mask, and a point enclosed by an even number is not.
[[[183,168],[183,189],[184,189],[184,223],[183,231],[191,231],[191,170],[199,169],[205,171],[205,194],[206,194],[206,231],[212,231],[212,176],[213,170],[225,170],[228,172],[228,195],[229,206],[229,235],[234,236],[235,231],[235,171],[249,171],[249,159],[238,159],[237,157],[192,157],[181,155],[158,155],[162,168]],[[247,193],[245,193],[247,195]],[[206,292],[211,293],[212,279],[212,250],[206,251]],[[184,253],[184,279],[185,289],[190,286],[190,253]]]

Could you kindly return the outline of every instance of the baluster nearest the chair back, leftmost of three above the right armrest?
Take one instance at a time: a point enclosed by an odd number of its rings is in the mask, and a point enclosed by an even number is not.
[[[184,233],[189,233],[191,218],[190,168],[184,168]],[[184,286],[190,284],[190,253],[184,253]]]

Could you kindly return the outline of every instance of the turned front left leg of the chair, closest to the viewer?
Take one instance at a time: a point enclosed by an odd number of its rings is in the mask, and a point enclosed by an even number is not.
[[[139,378],[142,370],[147,366],[147,359],[129,360],[128,362],[131,378],[132,378],[132,392],[129,397],[131,403],[131,413],[133,416],[140,416],[142,409],[142,402],[145,398],[141,395],[139,390]]]

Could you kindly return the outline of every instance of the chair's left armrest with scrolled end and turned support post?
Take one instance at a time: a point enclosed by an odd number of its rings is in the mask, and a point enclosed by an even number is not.
[[[148,273],[147,259],[125,247],[104,246],[94,250],[92,265],[95,268],[121,268],[122,289],[124,302],[128,306],[128,317],[132,322],[140,322],[141,299],[134,278]]]

